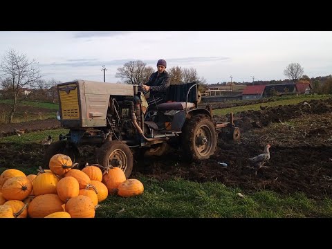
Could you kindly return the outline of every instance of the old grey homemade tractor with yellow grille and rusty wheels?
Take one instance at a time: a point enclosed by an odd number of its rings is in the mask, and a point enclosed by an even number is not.
[[[161,156],[172,147],[182,149],[185,160],[204,160],[216,150],[217,131],[240,138],[232,113],[230,122],[216,124],[210,105],[198,108],[196,82],[169,86],[162,104],[148,102],[149,92],[138,85],[77,80],[58,84],[57,91],[57,120],[68,133],[46,150],[46,167],[55,154],[77,162],[79,147],[93,145],[96,163],[120,167],[129,178],[136,153]]]

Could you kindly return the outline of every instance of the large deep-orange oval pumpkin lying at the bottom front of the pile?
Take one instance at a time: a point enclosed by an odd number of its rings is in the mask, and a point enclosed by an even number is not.
[[[45,173],[44,173],[45,174]],[[54,212],[62,212],[62,201],[57,194],[41,194],[36,196],[28,205],[28,216],[31,218],[44,218]]]

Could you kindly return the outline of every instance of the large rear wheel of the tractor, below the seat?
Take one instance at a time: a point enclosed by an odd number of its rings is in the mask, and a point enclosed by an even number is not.
[[[216,151],[216,128],[204,114],[193,116],[183,127],[183,155],[190,161],[210,158]]]

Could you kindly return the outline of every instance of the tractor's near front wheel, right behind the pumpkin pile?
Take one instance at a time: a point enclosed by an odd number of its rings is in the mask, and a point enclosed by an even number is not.
[[[98,163],[104,167],[108,167],[109,165],[120,167],[126,178],[129,178],[133,171],[133,154],[124,142],[117,140],[105,142],[100,147]]]

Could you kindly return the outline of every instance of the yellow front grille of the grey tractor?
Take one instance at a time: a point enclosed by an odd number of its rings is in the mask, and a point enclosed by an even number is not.
[[[59,86],[59,96],[62,109],[62,120],[80,119],[78,107],[77,85]]]

